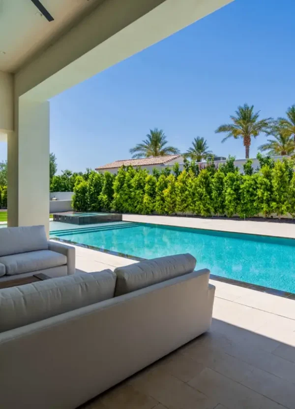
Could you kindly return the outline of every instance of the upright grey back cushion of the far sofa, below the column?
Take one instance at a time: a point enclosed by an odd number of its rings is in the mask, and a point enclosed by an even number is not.
[[[48,250],[44,226],[7,227],[0,229],[0,257]]]

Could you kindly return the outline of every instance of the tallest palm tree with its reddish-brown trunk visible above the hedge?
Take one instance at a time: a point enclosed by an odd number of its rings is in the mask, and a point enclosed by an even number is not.
[[[215,133],[227,132],[227,136],[222,139],[222,143],[228,138],[242,138],[246,151],[246,159],[249,159],[251,136],[258,136],[261,132],[267,132],[272,118],[258,120],[259,113],[253,112],[254,105],[244,104],[238,106],[236,116],[231,116],[233,124],[224,124],[216,129]]]

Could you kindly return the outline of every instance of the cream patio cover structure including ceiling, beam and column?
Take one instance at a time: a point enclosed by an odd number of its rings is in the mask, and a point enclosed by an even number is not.
[[[62,0],[48,10],[40,1],[1,2],[8,226],[49,230],[49,100],[231,1]]]

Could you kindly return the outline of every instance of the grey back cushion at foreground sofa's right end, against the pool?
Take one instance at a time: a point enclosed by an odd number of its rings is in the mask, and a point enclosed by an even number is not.
[[[115,269],[117,275],[115,296],[191,273],[195,267],[196,259],[191,254],[159,257],[118,267]]]

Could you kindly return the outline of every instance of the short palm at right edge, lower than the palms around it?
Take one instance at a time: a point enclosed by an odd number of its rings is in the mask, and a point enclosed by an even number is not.
[[[291,155],[294,153],[295,142],[292,136],[286,135],[285,129],[279,125],[274,125],[268,136],[273,136],[273,139],[267,139],[267,142],[259,146],[262,152],[268,151],[271,156],[275,155]]]

